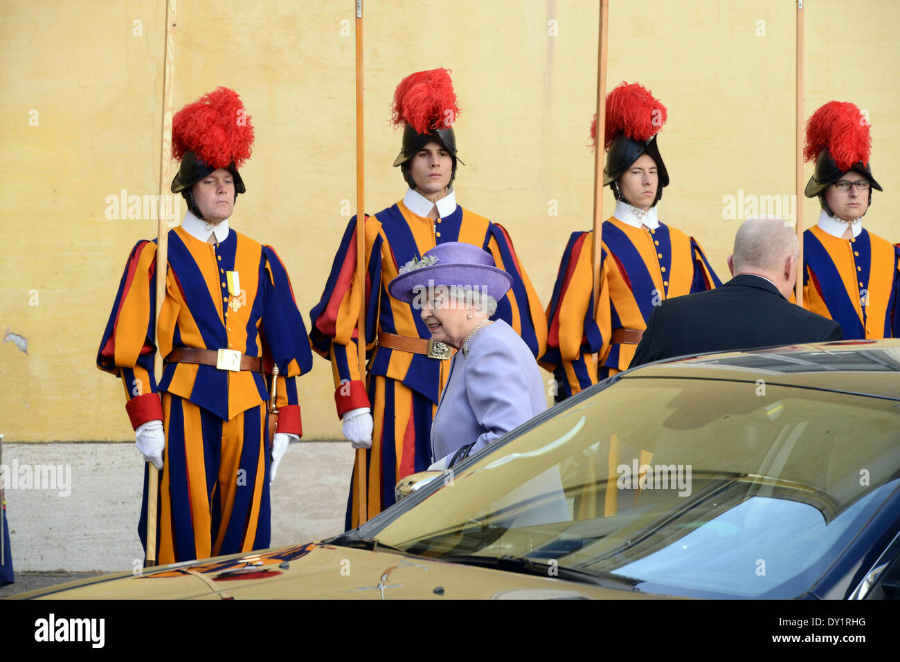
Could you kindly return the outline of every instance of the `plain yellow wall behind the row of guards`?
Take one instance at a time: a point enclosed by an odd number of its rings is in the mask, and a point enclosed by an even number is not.
[[[741,220],[723,219],[723,197],[794,191],[795,5],[610,4],[608,86],[639,81],[669,109],[660,218],[698,237],[725,277]],[[307,322],[347,224],[342,201],[356,195],[353,6],[178,6],[175,109],[217,85],[241,94],[257,141],[233,227],[276,247]],[[900,241],[888,211],[900,201],[900,4],[805,7],[806,116],[832,99],[868,110],[885,192],[866,225]],[[7,441],[131,437],[121,385],[94,368],[94,354],[130,247],[155,236],[156,221],[107,219],[106,196],[157,192],[164,14],[162,0],[0,8],[0,330],[29,342],[27,356],[0,344]],[[589,0],[366,0],[367,209],[405,189],[391,167],[401,139],[387,123],[394,87],[412,71],[452,69],[466,163],[457,198],[509,229],[546,303],[569,233],[590,226],[597,24]],[[609,192],[604,204],[612,209]],[[815,222],[818,202],[803,206]],[[317,356],[314,366],[299,382],[304,436],[335,438],[329,364]]]

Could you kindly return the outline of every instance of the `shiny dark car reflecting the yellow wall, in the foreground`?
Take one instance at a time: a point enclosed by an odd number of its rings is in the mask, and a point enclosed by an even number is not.
[[[900,341],[623,372],[326,541],[21,598],[870,598],[900,577]]]

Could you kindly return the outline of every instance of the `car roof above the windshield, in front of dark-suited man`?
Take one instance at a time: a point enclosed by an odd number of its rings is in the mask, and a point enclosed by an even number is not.
[[[900,401],[900,339],[844,340],[679,357],[638,366],[624,379],[765,380]]]

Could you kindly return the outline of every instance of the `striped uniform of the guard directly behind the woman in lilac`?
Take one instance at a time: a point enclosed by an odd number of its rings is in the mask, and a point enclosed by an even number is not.
[[[419,312],[394,299],[388,283],[413,257],[448,241],[482,248],[513,278],[494,316],[516,329],[535,356],[545,350],[546,321],[541,303],[519,264],[507,231],[456,206],[444,218],[413,213],[403,201],[365,220],[365,343],[368,379],[364,386],[357,353],[357,311],[363,287],[356,273],[356,217],[341,239],[319,304],[311,311],[313,349],[331,361],[338,416],[372,407],[372,448],[366,453],[365,518],[394,503],[397,481],[431,463],[431,421],[450,368],[449,361],[376,346],[379,332],[410,338],[431,337]],[[360,522],[355,484],[347,505],[347,528]]]

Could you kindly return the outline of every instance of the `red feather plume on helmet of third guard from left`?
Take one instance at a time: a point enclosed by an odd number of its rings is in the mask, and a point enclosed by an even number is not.
[[[608,149],[620,133],[630,139],[649,140],[669,119],[666,107],[640,83],[622,81],[607,94],[607,126],[603,148]],[[590,147],[597,146],[597,114],[590,122]]]

